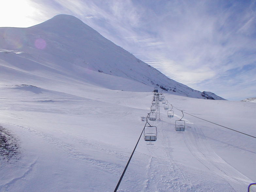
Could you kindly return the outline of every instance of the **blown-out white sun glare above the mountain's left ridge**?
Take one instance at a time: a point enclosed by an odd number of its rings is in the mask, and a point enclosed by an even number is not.
[[[30,0],[1,0],[0,27],[29,27],[37,13]]]

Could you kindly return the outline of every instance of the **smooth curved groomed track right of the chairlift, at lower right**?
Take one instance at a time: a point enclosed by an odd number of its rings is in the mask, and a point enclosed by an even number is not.
[[[231,186],[232,191],[245,191],[247,183],[252,181],[213,151],[200,128],[193,125],[187,129],[183,137],[192,155],[207,169],[222,177]]]

